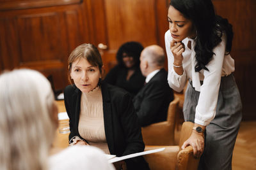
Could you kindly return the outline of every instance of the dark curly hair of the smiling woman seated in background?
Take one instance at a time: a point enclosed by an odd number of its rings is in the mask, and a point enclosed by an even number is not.
[[[127,53],[128,56],[131,56],[134,60],[135,66],[140,66],[140,53],[143,50],[141,43],[137,41],[129,41],[121,45],[116,53],[116,60],[118,65],[125,67],[123,62],[123,53]]]

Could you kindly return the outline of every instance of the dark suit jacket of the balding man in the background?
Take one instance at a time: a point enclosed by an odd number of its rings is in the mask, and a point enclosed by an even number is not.
[[[168,106],[173,101],[167,75],[167,71],[161,69],[134,97],[134,108],[141,126],[166,120]]]

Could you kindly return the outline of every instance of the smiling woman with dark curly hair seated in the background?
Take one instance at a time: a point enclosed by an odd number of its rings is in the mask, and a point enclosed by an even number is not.
[[[122,87],[135,96],[145,82],[140,71],[140,53],[143,46],[136,41],[124,43],[116,53],[118,65],[113,67],[104,79],[111,85]]]

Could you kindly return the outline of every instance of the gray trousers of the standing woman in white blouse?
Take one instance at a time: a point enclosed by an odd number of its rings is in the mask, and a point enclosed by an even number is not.
[[[185,121],[195,121],[195,108],[200,92],[191,83],[185,94],[183,106]],[[242,104],[233,74],[221,78],[216,116],[206,127],[205,150],[198,169],[232,169],[232,153],[242,118]]]

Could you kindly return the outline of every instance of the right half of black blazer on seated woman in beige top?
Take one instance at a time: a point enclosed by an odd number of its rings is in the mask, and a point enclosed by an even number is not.
[[[131,94],[118,87],[102,83],[104,124],[109,151],[123,156],[143,152],[145,145],[141,135],[138,116],[134,111]],[[108,99],[109,97],[109,99]],[[128,169],[148,169],[143,157],[125,160]]]

